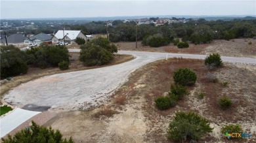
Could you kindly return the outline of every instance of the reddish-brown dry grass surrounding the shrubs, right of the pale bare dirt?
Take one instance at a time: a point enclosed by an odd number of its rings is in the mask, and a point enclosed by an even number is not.
[[[177,106],[168,110],[158,110],[155,106],[154,99],[166,94],[173,84],[173,72],[179,68],[188,67],[196,72],[198,80],[196,85],[188,87],[190,95],[179,101]],[[256,70],[256,68],[254,68]],[[240,69],[236,65],[225,64],[221,69],[209,71],[204,66],[203,60],[200,59],[182,59],[175,57],[168,61],[160,60],[145,65],[141,69],[133,72],[129,82],[125,83],[118,95],[126,94],[125,104],[136,105],[137,97],[145,99],[142,104],[144,116],[148,121],[148,130],[146,132],[145,142],[169,142],[166,138],[168,123],[178,111],[194,111],[215,123],[218,127],[224,123],[237,123],[244,125],[244,129],[252,129],[247,123],[253,123],[256,114],[255,103],[256,87],[246,86],[253,85],[256,82],[254,71]],[[213,77],[208,77],[209,75]],[[240,75],[240,76],[238,76]],[[236,77],[234,77],[236,76]],[[223,87],[221,83],[215,83],[217,78],[220,81],[228,81],[229,84]],[[144,84],[143,88],[135,88],[137,84]],[[205,93],[205,97],[198,99],[198,94]],[[234,104],[228,110],[223,110],[217,103],[221,96],[228,96],[234,101]],[[217,133],[218,130],[216,131]],[[208,135],[200,142],[224,142],[222,135]],[[250,139],[253,141],[254,139]],[[250,142],[250,141],[247,141]]]

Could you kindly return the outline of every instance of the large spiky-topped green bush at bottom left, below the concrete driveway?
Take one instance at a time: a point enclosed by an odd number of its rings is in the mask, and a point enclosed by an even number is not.
[[[70,137],[69,140],[62,138],[60,131],[54,131],[51,127],[42,127],[32,121],[32,125],[19,131],[14,136],[8,135],[8,138],[1,138],[3,143],[38,143],[38,142],[59,142],[59,143],[73,143],[74,141]]]

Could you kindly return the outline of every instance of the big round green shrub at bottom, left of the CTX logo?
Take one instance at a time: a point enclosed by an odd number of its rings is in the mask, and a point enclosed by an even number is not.
[[[169,123],[168,138],[177,141],[199,140],[213,128],[207,119],[194,112],[177,112],[173,121]]]

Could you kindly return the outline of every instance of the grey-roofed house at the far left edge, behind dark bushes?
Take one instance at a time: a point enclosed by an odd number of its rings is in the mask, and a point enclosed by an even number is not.
[[[22,46],[24,45],[24,40],[27,39],[28,37],[24,37],[23,34],[12,34],[9,37],[7,37],[7,42],[8,44],[13,44],[15,46]],[[6,45],[5,39],[0,39],[1,44]]]

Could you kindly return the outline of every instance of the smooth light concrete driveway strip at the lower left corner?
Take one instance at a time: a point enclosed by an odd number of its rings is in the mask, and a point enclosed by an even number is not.
[[[39,113],[41,112],[33,112],[21,108],[14,109],[10,114],[7,114],[7,116],[0,118],[0,138]]]

